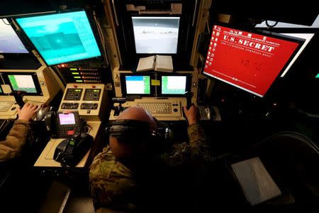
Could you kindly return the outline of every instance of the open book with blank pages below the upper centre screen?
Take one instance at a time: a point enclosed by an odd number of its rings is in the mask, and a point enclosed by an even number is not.
[[[152,55],[140,58],[137,72],[155,70],[162,72],[173,72],[173,60],[171,55]]]

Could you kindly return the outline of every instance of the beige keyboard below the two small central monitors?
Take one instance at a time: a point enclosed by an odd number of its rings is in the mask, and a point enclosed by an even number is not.
[[[142,107],[155,117],[181,116],[181,104],[174,99],[139,99],[135,100],[137,107]]]

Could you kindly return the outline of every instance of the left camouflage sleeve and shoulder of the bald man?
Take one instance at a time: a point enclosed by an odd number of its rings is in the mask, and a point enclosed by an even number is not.
[[[91,197],[94,207],[133,209],[131,200],[136,187],[128,168],[116,162],[109,148],[96,155],[89,170]]]

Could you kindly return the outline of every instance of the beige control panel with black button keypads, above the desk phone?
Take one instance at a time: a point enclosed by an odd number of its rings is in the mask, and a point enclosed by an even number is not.
[[[86,121],[101,121],[105,90],[104,84],[67,84],[59,111],[77,110]]]

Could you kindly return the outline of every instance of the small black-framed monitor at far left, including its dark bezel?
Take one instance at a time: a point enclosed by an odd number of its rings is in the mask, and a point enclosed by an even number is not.
[[[12,90],[25,91],[27,95],[42,95],[38,77],[35,72],[7,72],[3,73],[4,82]]]

